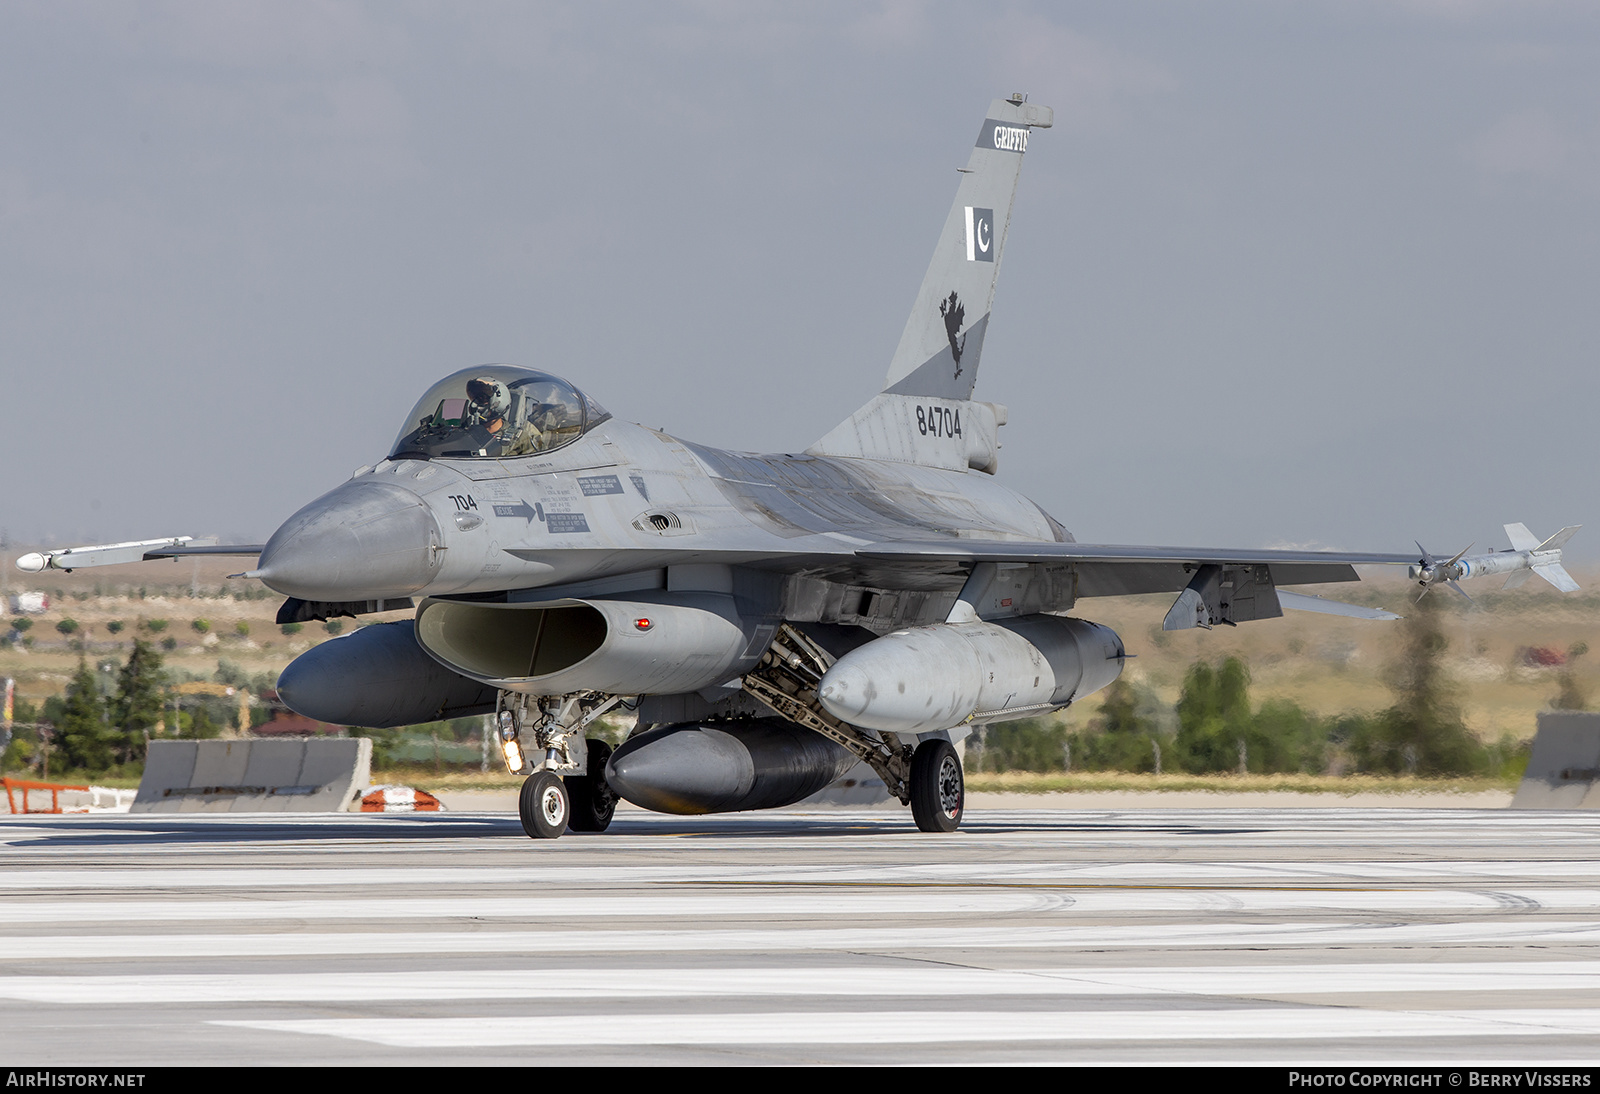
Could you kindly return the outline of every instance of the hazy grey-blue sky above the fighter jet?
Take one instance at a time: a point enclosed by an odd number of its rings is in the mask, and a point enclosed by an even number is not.
[[[1078,539],[1600,557],[1600,5],[0,0],[0,529],[261,541],[512,361],[798,451],[989,99],[978,398]]]

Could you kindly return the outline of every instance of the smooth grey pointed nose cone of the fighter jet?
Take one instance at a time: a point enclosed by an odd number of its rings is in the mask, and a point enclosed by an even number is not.
[[[443,545],[434,513],[414,493],[354,481],[283,521],[256,573],[301,600],[410,597],[438,573]]]

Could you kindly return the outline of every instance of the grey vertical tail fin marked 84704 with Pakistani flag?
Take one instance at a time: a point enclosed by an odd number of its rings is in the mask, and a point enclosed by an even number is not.
[[[1006,411],[973,384],[1027,138],[1053,120],[1021,94],[989,104],[883,392],[806,451],[994,473]]]

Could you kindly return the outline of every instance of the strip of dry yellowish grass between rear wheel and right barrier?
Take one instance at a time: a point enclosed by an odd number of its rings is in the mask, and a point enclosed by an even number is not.
[[[1403,776],[1192,776],[1192,774],[1123,774],[1118,771],[1045,773],[1006,771],[1002,774],[970,774],[966,789],[973,793],[1086,793],[1106,790],[1152,790],[1214,793],[1482,793],[1515,790],[1515,779],[1408,779]]]

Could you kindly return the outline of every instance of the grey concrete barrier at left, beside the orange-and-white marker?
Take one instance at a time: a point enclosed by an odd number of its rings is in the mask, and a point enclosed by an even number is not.
[[[133,813],[342,813],[373,774],[365,737],[152,741]]]

